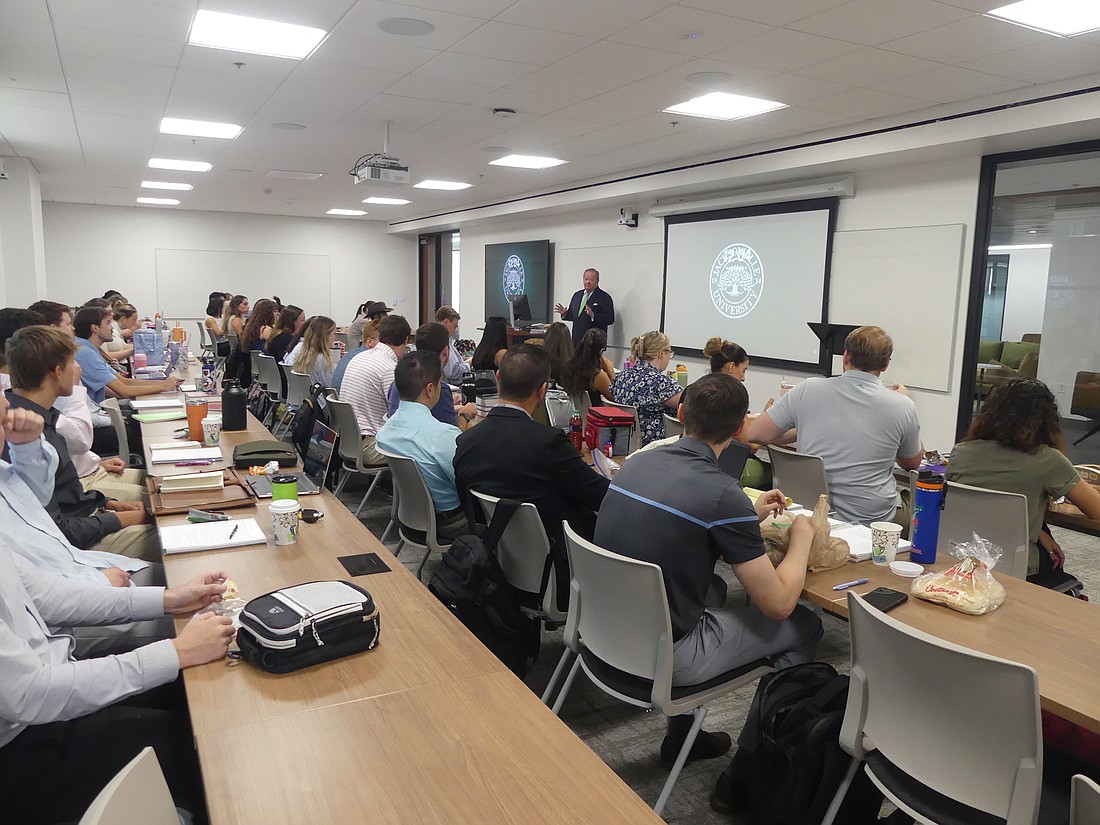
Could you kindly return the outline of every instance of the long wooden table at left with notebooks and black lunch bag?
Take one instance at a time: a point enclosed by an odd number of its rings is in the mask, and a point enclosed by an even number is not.
[[[142,425],[145,443],[182,425]],[[257,438],[271,435],[250,416],[222,452]],[[165,559],[169,584],[223,570],[244,598],[348,579],[340,556],[391,568],[356,580],[381,610],[374,650],[286,675],[229,660],[184,672],[215,825],[661,822],[344,505],[327,491],[301,502],[326,515],[292,547],[274,546],[261,501],[228,513],[256,518],[267,544]]]

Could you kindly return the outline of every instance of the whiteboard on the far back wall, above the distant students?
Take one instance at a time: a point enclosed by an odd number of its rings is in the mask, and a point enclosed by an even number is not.
[[[156,306],[165,318],[205,318],[216,290],[244,295],[252,306],[277,295],[307,315],[332,315],[328,255],[156,250]]]

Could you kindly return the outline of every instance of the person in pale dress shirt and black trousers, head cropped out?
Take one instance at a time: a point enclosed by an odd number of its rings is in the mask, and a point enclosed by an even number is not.
[[[205,823],[194,734],[178,692],[184,668],[226,656],[229,617],[205,613],[175,639],[74,658],[52,628],[153,619],[221,600],[221,571],[182,587],[102,587],[37,570],[0,537],[0,798],[7,822],[76,822],[116,773],[151,746],[174,802]],[[147,694],[147,695],[141,695]],[[172,710],[164,710],[167,705]]]

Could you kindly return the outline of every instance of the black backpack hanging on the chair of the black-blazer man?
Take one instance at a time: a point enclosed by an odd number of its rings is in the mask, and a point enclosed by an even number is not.
[[[443,553],[428,590],[513,673],[522,679],[538,659],[540,622],[524,613],[496,560],[496,544],[519,509],[502,498],[484,539],[460,536]]]

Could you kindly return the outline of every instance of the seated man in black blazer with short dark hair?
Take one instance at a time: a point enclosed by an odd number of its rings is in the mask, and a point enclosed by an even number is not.
[[[562,519],[592,538],[608,482],[584,463],[562,430],[531,418],[550,381],[550,356],[541,346],[513,346],[501,360],[497,375],[499,403],[458,439],[454,481],[459,496],[469,503],[469,491],[476,490],[538,507],[556,562],[558,596],[564,605],[569,564]]]

